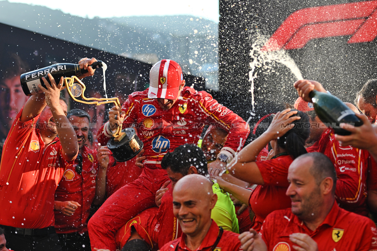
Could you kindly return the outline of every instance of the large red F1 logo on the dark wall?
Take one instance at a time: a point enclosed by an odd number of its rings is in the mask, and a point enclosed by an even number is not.
[[[293,12],[262,47],[263,51],[299,49],[315,38],[352,35],[347,43],[371,42],[377,36],[377,1],[345,3]]]

